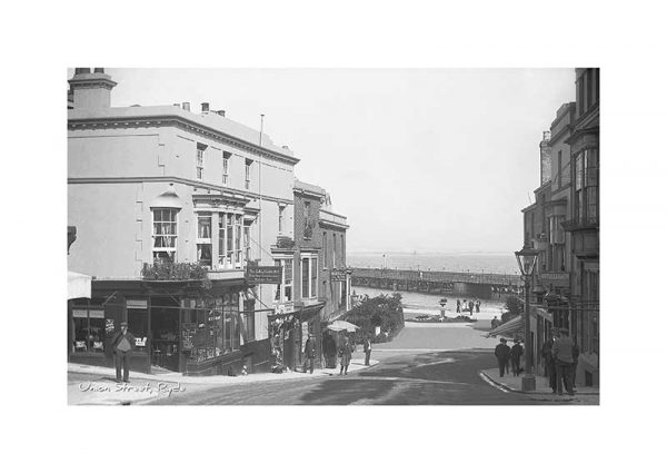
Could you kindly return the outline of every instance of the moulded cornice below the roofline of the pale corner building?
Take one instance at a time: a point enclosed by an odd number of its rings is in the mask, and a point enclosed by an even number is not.
[[[69,130],[100,129],[100,128],[137,128],[137,127],[177,127],[186,131],[191,131],[209,139],[213,139],[235,148],[243,149],[258,156],[267,156],[278,161],[296,165],[298,158],[287,156],[259,145],[251,144],[241,138],[227,135],[226,132],[198,124],[178,115],[141,116],[133,117],[89,117],[89,118],[68,118],[67,126]]]

